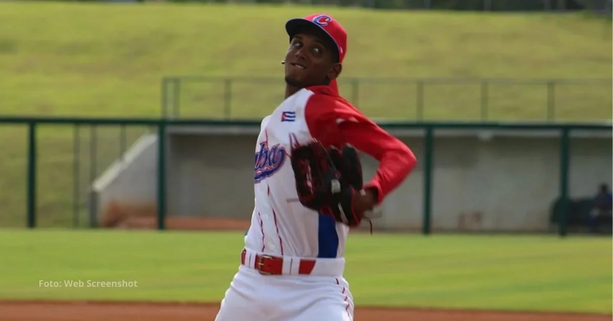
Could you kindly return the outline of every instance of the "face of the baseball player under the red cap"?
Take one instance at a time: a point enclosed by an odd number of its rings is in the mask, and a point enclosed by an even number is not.
[[[285,55],[286,82],[299,88],[329,84],[340,74],[340,63],[334,62],[335,54],[319,37],[296,34]]]

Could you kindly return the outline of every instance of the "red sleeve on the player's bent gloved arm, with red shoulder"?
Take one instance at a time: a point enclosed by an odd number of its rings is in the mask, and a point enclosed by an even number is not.
[[[343,99],[313,95],[305,107],[305,118],[311,136],[322,144],[340,147],[348,143],[379,161],[375,176],[364,185],[376,188],[377,203],[400,185],[417,163],[403,142]]]

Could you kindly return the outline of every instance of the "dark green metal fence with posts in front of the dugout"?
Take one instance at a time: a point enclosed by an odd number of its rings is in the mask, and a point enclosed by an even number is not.
[[[246,128],[259,128],[259,121],[235,121],[225,122],[218,120],[167,120],[167,119],[151,119],[151,118],[51,118],[51,117],[0,117],[0,124],[4,125],[25,125],[28,128],[27,131],[27,166],[24,180],[26,184],[26,226],[28,228],[34,228],[37,226],[37,152],[40,147],[37,144],[39,135],[37,135],[37,128],[40,125],[70,125],[74,126],[73,139],[77,141],[79,134],[79,128],[82,126],[91,126],[91,131],[95,133],[97,127],[101,126],[150,126],[156,128],[158,135],[158,158],[157,158],[157,172],[158,177],[156,180],[157,191],[157,228],[164,230],[166,224],[166,139],[167,128],[169,126],[244,126]],[[568,202],[568,185],[569,185],[569,137],[571,131],[609,131],[611,132],[611,124],[581,124],[581,123],[442,123],[442,122],[428,122],[428,123],[381,123],[381,126],[386,129],[421,129],[424,130],[424,207],[423,207],[423,224],[422,233],[428,234],[431,231],[430,217],[432,211],[432,190],[433,190],[433,159],[435,158],[433,152],[433,145],[436,130],[546,130],[546,131],[559,131],[560,133],[560,192],[559,197],[562,199],[562,204]],[[122,130],[125,132],[124,130]],[[92,136],[93,137],[93,136]],[[123,138],[122,138],[123,137]],[[90,137],[91,139],[91,137]],[[90,143],[94,146],[90,146],[90,152],[93,151],[93,159],[96,158],[96,146],[95,139],[91,139]],[[125,150],[125,134],[120,135],[121,155]],[[74,161],[72,166],[78,167],[78,161],[75,155],[78,153],[78,145],[74,144],[73,157]],[[93,148],[92,148],[93,147]],[[90,161],[91,165],[91,161]],[[95,163],[94,171],[90,169],[90,175],[95,176]],[[78,211],[78,178],[75,177],[73,171],[74,180],[74,198],[72,208],[74,211]],[[93,182],[95,177],[90,177],[90,183]],[[558,224],[558,233],[561,236],[566,235],[566,206],[563,206],[564,211],[562,213],[561,223]],[[90,226],[96,226],[95,218],[90,217]]]

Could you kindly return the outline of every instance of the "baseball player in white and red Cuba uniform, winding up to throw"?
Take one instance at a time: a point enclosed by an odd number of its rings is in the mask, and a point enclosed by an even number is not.
[[[416,164],[405,144],[338,95],[347,34],[326,14],[287,21],[285,100],[262,120],[255,206],[216,321],[349,321],[349,228]],[[379,161],[362,184],[356,150]]]

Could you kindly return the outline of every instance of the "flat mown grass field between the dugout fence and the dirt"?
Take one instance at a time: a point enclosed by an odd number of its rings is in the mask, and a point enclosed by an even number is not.
[[[218,302],[242,233],[0,230],[0,298]],[[346,277],[361,306],[611,313],[611,239],[352,234]],[[44,288],[39,280],[136,280]]]

